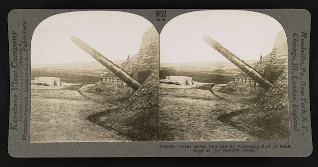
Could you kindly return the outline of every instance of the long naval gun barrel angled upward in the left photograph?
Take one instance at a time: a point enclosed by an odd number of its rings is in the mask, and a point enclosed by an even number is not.
[[[85,42],[81,41],[76,36],[72,36],[71,41],[74,42],[80,49],[87,52],[90,56],[96,59],[99,63],[105,66],[108,70],[114,73],[118,78],[127,83],[128,86],[137,90],[140,87],[140,83],[130,77],[127,73],[121,70],[118,66],[116,66],[113,62],[105,58],[103,55],[98,53],[96,50],[88,46]]]

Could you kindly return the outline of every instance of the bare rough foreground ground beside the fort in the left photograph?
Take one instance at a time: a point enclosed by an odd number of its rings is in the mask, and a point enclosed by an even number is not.
[[[88,115],[116,105],[56,87],[32,85],[30,142],[130,141],[86,120]]]

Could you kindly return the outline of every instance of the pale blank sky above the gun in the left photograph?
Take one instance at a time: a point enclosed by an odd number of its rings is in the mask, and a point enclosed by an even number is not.
[[[138,53],[142,37],[153,25],[144,17],[120,11],[76,11],[43,20],[31,41],[31,64],[95,61],[71,42],[77,36],[109,60]]]

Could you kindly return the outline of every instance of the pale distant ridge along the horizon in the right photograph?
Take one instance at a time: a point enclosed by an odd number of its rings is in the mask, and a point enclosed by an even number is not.
[[[248,65],[252,65],[258,60],[244,60]],[[238,68],[230,61],[214,61],[214,62],[191,62],[191,63],[160,63],[160,68],[178,67],[178,68]]]

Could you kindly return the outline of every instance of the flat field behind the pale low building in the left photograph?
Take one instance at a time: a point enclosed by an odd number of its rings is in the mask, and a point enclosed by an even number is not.
[[[57,77],[61,81],[66,83],[82,83],[82,84],[91,84],[96,83],[101,80],[99,72],[100,69],[90,71],[88,69],[76,70],[76,69],[44,69],[37,68],[31,70],[32,79],[34,77]]]

